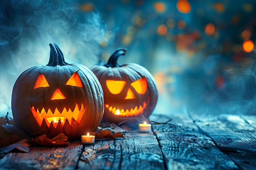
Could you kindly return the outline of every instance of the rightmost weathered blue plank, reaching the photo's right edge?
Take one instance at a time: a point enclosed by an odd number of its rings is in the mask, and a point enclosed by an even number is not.
[[[193,120],[240,169],[256,167],[256,130],[238,115],[207,115]]]

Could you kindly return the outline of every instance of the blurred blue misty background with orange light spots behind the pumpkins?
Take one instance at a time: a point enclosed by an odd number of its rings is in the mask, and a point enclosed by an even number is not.
[[[177,1],[1,0],[0,116],[11,113],[18,76],[48,63],[51,42],[67,62],[88,67],[126,47],[119,64],[155,77],[155,113],[256,114],[255,50],[242,46],[256,41],[256,2],[189,0],[182,13]]]

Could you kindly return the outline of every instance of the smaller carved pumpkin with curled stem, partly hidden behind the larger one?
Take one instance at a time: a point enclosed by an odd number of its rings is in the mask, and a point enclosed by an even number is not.
[[[126,49],[117,49],[104,66],[90,68],[101,83],[105,110],[103,121],[119,123],[123,118],[148,118],[157,103],[157,86],[146,68],[130,63],[119,65]]]

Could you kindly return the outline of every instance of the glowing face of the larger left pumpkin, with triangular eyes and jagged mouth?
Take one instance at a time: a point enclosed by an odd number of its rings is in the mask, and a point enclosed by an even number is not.
[[[60,81],[60,82],[62,82],[62,81]],[[73,87],[77,87],[77,88],[83,87],[81,79],[78,74],[78,71],[76,71],[67,80],[67,82],[64,86],[62,86],[61,84],[58,84],[58,86],[63,89],[63,92],[61,91],[61,89],[59,87],[57,87],[57,88],[51,87],[49,85],[47,79],[45,78],[45,76],[42,73],[39,74],[39,76],[36,80],[35,86],[34,86],[34,91],[39,91],[39,93],[40,93],[40,91],[41,91],[40,88],[46,88],[46,89],[44,89],[44,92],[45,92],[45,90],[49,92],[48,94],[46,94],[47,99],[49,99],[49,102],[52,101],[53,104],[57,103],[57,102],[60,103],[60,104],[58,104],[58,106],[59,106],[58,108],[52,107],[52,106],[40,107],[40,106],[38,106],[38,104],[37,105],[32,104],[30,106],[31,112],[33,113],[39,126],[42,125],[43,119],[45,119],[45,123],[47,124],[48,127],[50,126],[51,122],[53,122],[53,126],[56,127],[58,123],[61,123],[61,126],[63,126],[63,124],[65,123],[66,120],[70,123],[70,122],[72,122],[72,119],[76,120],[76,122],[79,124],[83,117],[83,114],[84,114],[85,108],[86,108],[86,103],[79,102],[79,103],[75,104],[75,107],[74,107],[74,105],[72,105],[73,108],[70,108],[69,104],[67,104],[65,102],[65,100],[67,99],[67,97],[72,97],[72,96],[67,96],[67,95],[70,95],[70,93],[65,93],[65,95],[63,94],[64,92],[67,92],[66,90],[67,90],[68,86],[73,86]],[[65,87],[65,86],[67,86],[67,87]],[[49,89],[47,89],[47,88],[49,88]],[[50,90],[50,88],[53,88],[53,89]],[[52,104],[50,104],[50,105],[52,105]]]

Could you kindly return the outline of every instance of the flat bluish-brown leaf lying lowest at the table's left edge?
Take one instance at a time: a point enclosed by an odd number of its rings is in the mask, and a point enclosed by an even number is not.
[[[16,142],[15,144],[11,144],[9,146],[6,146],[4,148],[0,148],[0,154],[3,153],[9,153],[13,149],[18,149],[21,152],[29,152],[29,146],[30,146],[30,141],[27,139],[23,139],[21,141]]]

